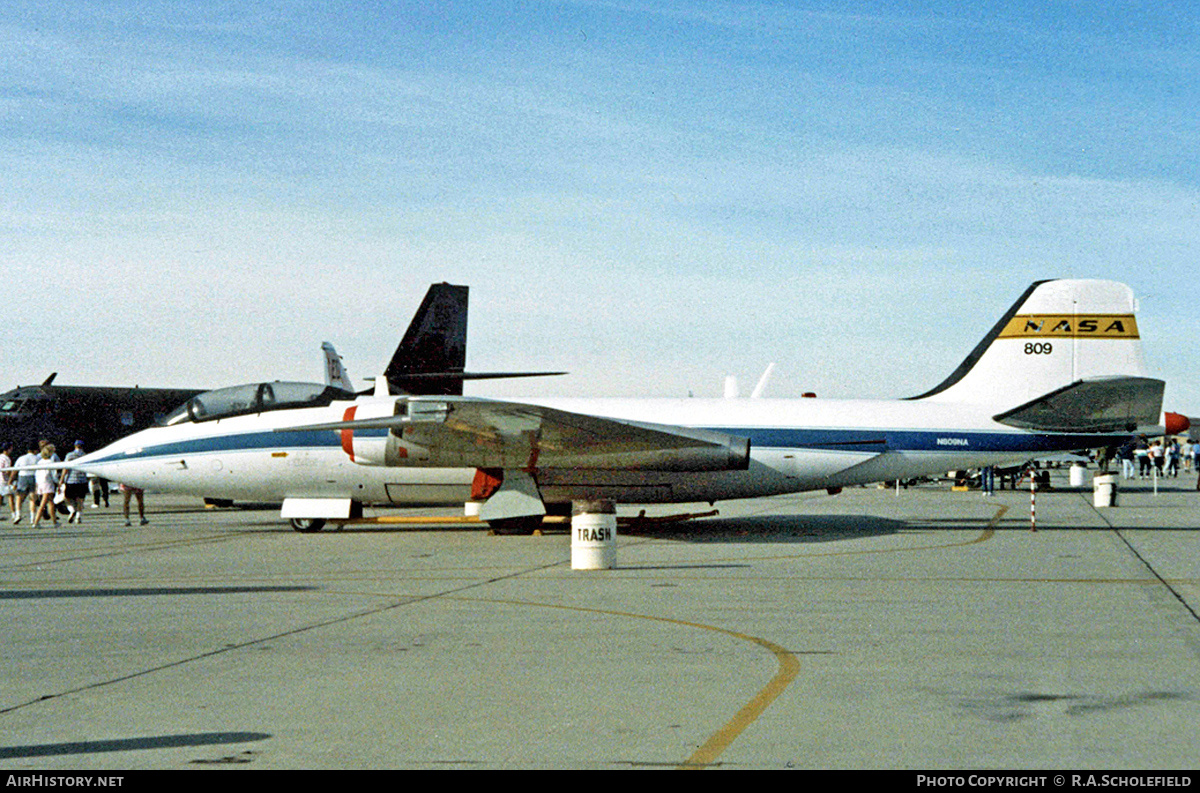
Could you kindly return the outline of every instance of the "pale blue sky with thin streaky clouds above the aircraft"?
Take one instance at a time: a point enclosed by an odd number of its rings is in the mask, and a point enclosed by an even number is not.
[[[1032,281],[1139,295],[1200,415],[1182,4],[8,2],[2,374],[390,356],[431,282],[512,396],[894,397]]]

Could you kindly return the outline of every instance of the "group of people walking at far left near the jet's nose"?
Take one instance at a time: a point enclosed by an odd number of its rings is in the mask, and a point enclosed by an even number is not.
[[[70,463],[84,455],[84,443],[77,440],[74,449],[66,459],[58,455],[58,449],[48,440],[30,443],[26,452],[13,459],[12,441],[0,443],[0,501],[7,500],[13,525],[22,521],[22,505],[29,504],[29,522],[37,528],[42,521],[59,523],[60,504],[66,509],[67,523],[83,522],[83,504],[88,498],[89,487],[92,494],[92,506],[98,507],[101,499],[108,506],[108,481],[101,476],[89,477],[82,470],[71,468],[53,468],[49,463]],[[32,468],[44,464],[44,468]],[[4,470],[6,468],[25,468],[24,470]],[[89,486],[90,479],[90,486]],[[138,518],[142,525],[149,523],[145,517],[143,491],[137,487],[120,486],[125,497],[125,525],[130,525],[130,500],[138,505]]]

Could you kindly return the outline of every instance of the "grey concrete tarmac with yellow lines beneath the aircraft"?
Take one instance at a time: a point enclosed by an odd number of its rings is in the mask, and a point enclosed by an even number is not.
[[[1054,483],[1037,533],[1026,491],[853,488],[593,572],[565,530],[154,494],[0,523],[0,768],[1194,768],[1195,474]]]

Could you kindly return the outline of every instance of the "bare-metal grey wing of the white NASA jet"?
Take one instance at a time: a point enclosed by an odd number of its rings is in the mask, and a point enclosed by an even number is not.
[[[464,468],[742,470],[750,441],[708,429],[625,421],[472,397],[402,397],[395,414],[280,431],[386,428],[400,464]]]

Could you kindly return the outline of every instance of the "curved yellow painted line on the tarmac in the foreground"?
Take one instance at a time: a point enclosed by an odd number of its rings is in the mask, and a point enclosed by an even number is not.
[[[716,625],[706,625],[704,623],[692,623],[684,619],[672,619],[670,617],[654,617],[650,614],[635,614],[634,612],[620,612],[611,611],[607,608],[587,608],[583,606],[563,606],[558,603],[539,603],[528,600],[498,600],[491,597],[460,597],[457,600],[473,600],[473,601],[486,601],[492,603],[508,603],[511,606],[535,606],[539,608],[559,608],[564,611],[572,612],[586,612],[590,614],[604,614],[608,617],[628,617],[630,619],[644,619],[654,623],[667,623],[671,625],[682,625],[684,627],[698,627],[704,631],[713,631],[714,633],[725,633],[726,636],[732,636],[733,638],[752,642],[758,647],[764,648],[775,656],[775,661],[779,663],[779,671],[775,672],[774,677],[764,685],[757,695],[750,702],[739,709],[732,719],[730,719],[725,725],[713,733],[708,740],[706,740],[700,749],[692,752],[691,757],[685,759],[678,765],[679,769],[702,769],[712,765],[716,762],[716,758],[730,747],[737,738],[745,732],[745,729],[752,725],[758,716],[773,703],[779,695],[784,692],[784,689],[796,679],[799,674],[800,662],[797,660],[796,655],[790,650],[775,644],[769,639],[761,638],[758,636],[750,636],[749,633],[740,633],[738,631],[731,631],[725,627],[718,627]]]

